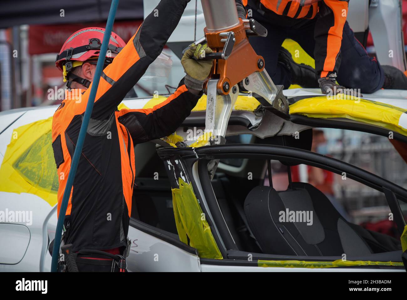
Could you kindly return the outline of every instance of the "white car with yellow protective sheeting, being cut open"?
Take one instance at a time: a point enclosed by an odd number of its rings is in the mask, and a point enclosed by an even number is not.
[[[138,188],[129,228],[129,271],[405,271],[400,240],[346,221],[308,183],[293,182],[277,192],[264,179],[270,160],[346,174],[385,195],[401,235],[405,219],[399,203],[407,202],[407,190],[310,152],[309,129],[342,128],[386,137],[391,132],[406,143],[407,93],[381,90],[365,95],[364,105],[343,99],[353,113],[333,111],[338,100],[321,97],[318,90],[284,94],[290,103],[285,118],[254,97],[239,96],[227,132],[241,137],[239,143],[192,148],[182,142],[188,143],[191,133],[195,139],[204,128],[204,96],[177,135],[136,145]],[[129,99],[119,109],[147,108],[164,99]],[[326,115],[313,116],[306,109],[309,101],[321,102]],[[58,174],[50,142],[56,108],[0,113],[0,271],[50,271],[48,245],[57,221]],[[378,121],[372,110],[392,118]],[[247,134],[252,138],[243,141]],[[254,180],[248,179],[249,172]],[[278,220],[287,207],[312,211],[312,224]]]

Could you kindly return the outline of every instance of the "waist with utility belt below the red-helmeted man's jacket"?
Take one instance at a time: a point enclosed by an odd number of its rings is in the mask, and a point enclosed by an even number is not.
[[[72,244],[61,247],[62,259],[58,262],[59,272],[127,272],[126,257],[130,254],[131,241],[123,254],[111,254],[101,250],[82,249],[72,251]]]

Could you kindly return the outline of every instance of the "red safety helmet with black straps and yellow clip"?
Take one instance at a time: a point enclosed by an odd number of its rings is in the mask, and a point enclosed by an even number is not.
[[[63,44],[55,60],[55,66],[62,71],[63,82],[70,88],[72,82],[78,82],[87,88],[90,81],[71,73],[72,69],[81,66],[87,60],[99,57],[105,29],[101,27],[87,27],[73,33]],[[112,31],[107,48],[105,64],[110,64],[126,43]]]

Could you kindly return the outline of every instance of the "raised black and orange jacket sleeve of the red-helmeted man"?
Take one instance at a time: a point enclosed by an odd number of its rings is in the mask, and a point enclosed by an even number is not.
[[[161,0],[102,73],[93,119],[107,119],[160,55],[190,0]],[[90,88],[89,88],[90,90]]]

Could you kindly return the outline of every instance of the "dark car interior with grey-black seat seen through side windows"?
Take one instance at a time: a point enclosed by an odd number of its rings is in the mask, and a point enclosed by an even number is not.
[[[301,133],[301,142],[291,136],[258,139],[253,143],[311,150],[312,130]],[[304,142],[306,140],[307,142]],[[239,142],[236,137],[227,143]],[[155,152],[155,144],[135,147],[136,184],[131,217],[177,236],[171,185],[164,164]],[[289,185],[273,188],[270,163],[262,159],[221,159],[210,181],[217,203],[237,249],[228,258],[247,259],[247,253],[284,257],[324,256],[373,261],[401,261],[400,240],[350,223],[330,199],[309,183],[292,182],[291,166],[286,161]],[[248,175],[251,176],[248,180]],[[265,180],[266,179],[266,180]],[[313,212],[312,225],[306,222],[280,222],[280,212]],[[372,256],[373,255],[373,256]]]

